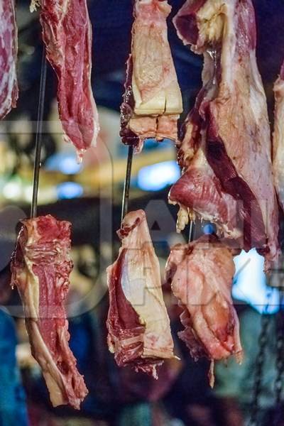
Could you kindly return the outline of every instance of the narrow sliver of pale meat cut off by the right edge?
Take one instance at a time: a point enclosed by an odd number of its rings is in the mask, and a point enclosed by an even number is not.
[[[273,175],[280,206],[284,211],[284,62],[274,87]]]

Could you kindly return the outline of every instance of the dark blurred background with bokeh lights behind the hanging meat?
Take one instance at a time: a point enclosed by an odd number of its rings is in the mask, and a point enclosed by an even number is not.
[[[192,107],[201,87],[202,58],[190,52],[178,39],[171,18],[183,4],[172,0],[168,21],[169,40],[182,90],[184,113]],[[258,66],[268,98],[273,123],[273,82],[284,58],[283,0],[255,0],[258,26]],[[75,150],[62,142],[56,104],[56,80],[48,66],[45,97],[39,214],[53,214],[72,222],[72,274],[68,313],[71,346],[84,374],[89,396],[82,411],[52,409],[48,394],[29,351],[21,318],[21,303],[9,290],[9,258],[16,239],[18,220],[28,216],[38,114],[42,42],[38,13],[29,12],[29,1],[17,1],[18,21],[18,107],[0,124],[0,414],[4,426],[15,422],[9,413],[18,410],[18,425],[59,426],[242,426],[249,425],[261,312],[269,295],[271,310],[266,342],[266,361],[258,410],[260,425],[272,425],[275,414],[275,318],[278,296],[269,293],[262,273],[263,260],[256,252],[241,253],[237,271],[250,259],[250,267],[234,280],[233,295],[239,311],[246,358],[243,366],[234,361],[216,368],[216,386],[208,386],[206,360],[194,363],[181,341],[175,346],[181,361],[165,363],[154,381],[128,368],[119,369],[107,350],[105,320],[108,308],[105,268],[117,255],[121,195],[126,166],[126,148],[119,141],[119,106],[124,91],[126,60],[131,43],[133,1],[90,0],[89,15],[94,33],[92,86],[99,107],[102,131],[97,148],[77,164]],[[170,245],[185,241],[175,234],[177,209],[168,206],[170,185],[180,170],[172,143],[148,141],[133,160],[130,209],[146,209],[151,236],[163,271]],[[206,232],[207,224],[197,224],[195,235]],[[246,257],[249,256],[249,257]],[[238,270],[239,268],[239,270]],[[165,288],[173,334],[180,329],[180,310]],[[14,321],[11,321],[13,315]],[[16,325],[16,329],[15,329]],[[8,330],[8,332],[7,332]],[[7,364],[7,351],[16,347]],[[8,349],[7,349],[8,348]],[[3,360],[3,362],[2,362]],[[17,376],[17,365],[21,377]],[[9,370],[10,368],[10,370]],[[11,398],[5,384],[13,372],[17,398]],[[2,383],[2,387],[1,387]],[[21,387],[23,383],[23,388]],[[5,403],[5,401],[10,403]],[[4,402],[1,402],[4,401]],[[21,408],[21,409],[20,409]],[[278,407],[279,408],[279,407]],[[28,412],[28,420],[26,410]],[[283,425],[278,416],[277,425]],[[0,421],[0,426],[2,423]]]

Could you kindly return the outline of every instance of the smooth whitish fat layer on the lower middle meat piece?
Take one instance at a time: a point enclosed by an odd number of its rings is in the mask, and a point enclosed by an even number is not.
[[[163,300],[160,265],[155,255],[146,217],[123,241],[131,245],[124,258],[121,288],[145,326],[143,357],[173,357],[170,320]]]

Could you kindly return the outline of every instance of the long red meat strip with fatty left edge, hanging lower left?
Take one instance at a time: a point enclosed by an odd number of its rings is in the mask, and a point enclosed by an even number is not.
[[[11,283],[21,295],[32,354],[43,370],[53,405],[79,409],[88,391],[68,345],[64,307],[72,271],[71,224],[50,215],[22,223]]]

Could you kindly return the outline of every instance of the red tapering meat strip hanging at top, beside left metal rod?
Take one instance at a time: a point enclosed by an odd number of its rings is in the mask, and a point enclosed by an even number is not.
[[[96,144],[99,118],[91,86],[92,26],[87,0],[32,1],[41,6],[46,57],[58,77],[58,111],[79,158]]]

